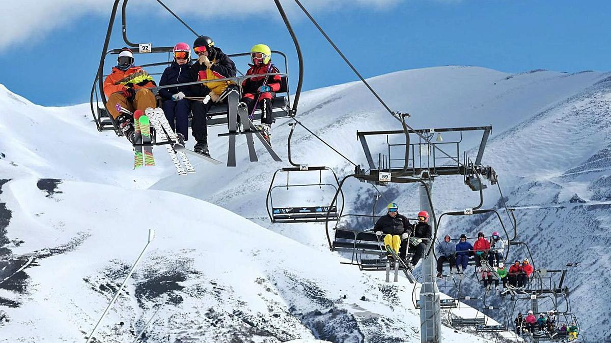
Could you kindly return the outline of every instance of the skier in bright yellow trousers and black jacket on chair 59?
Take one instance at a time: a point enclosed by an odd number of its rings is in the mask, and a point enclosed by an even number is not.
[[[386,215],[378,219],[373,226],[373,231],[378,237],[384,236],[384,247],[386,250],[392,250],[397,253],[401,259],[405,259],[407,244],[401,244],[409,237],[411,232],[409,219],[402,214],[399,214],[399,206],[397,203],[390,203],[386,207]],[[389,251],[390,253],[390,251]]]

